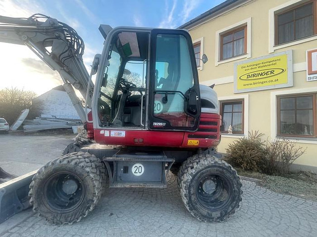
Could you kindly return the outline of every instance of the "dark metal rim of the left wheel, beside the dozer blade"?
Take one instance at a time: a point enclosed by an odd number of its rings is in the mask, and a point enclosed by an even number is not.
[[[65,213],[76,209],[85,197],[81,178],[71,172],[58,172],[49,177],[42,193],[45,205],[54,212]]]

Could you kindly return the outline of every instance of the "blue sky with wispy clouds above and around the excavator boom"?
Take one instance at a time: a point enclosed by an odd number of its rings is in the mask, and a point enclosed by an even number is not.
[[[104,39],[100,24],[177,28],[224,0],[0,0],[0,15],[42,13],[74,28],[85,42],[83,60],[90,73]],[[62,81],[28,47],[0,42],[0,89],[18,87],[45,93]]]

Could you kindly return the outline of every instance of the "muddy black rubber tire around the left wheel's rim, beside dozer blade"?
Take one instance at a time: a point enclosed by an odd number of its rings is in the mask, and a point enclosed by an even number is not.
[[[30,184],[30,203],[33,210],[51,224],[73,224],[79,222],[92,211],[102,196],[102,187],[105,179],[99,167],[103,163],[94,155],[84,152],[74,152],[56,158],[42,168],[33,176]],[[80,204],[74,210],[60,212],[49,208],[45,195],[43,195],[46,181],[57,172],[71,172],[78,176],[84,186],[84,194]]]

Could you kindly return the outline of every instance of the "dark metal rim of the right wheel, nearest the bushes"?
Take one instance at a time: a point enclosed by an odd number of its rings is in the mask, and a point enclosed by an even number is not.
[[[207,211],[223,209],[233,197],[232,183],[222,174],[207,173],[195,186],[198,204]]]

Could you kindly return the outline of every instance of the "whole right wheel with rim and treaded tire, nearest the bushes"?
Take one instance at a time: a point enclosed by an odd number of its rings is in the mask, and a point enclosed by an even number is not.
[[[242,200],[236,170],[211,155],[195,155],[183,162],[178,185],[185,207],[197,219],[218,222],[228,218]]]

